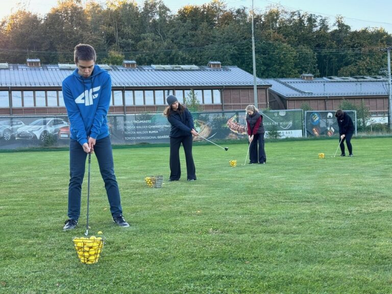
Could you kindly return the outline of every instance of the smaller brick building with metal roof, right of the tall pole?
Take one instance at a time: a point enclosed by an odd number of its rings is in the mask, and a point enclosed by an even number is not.
[[[388,81],[380,76],[265,79],[270,84],[269,105],[272,109],[301,109],[308,104],[312,110],[336,110],[342,100],[363,103],[373,117],[388,114]]]

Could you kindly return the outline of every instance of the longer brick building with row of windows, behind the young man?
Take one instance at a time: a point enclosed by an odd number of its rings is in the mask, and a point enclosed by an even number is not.
[[[240,110],[254,103],[253,75],[237,66],[211,61],[207,66],[149,65],[124,60],[121,66],[99,64],[112,77],[109,113],[158,112],[166,96],[185,102],[191,91],[204,111]],[[75,64],[41,65],[0,63],[0,115],[65,114],[62,81]],[[257,79],[258,107],[268,108],[268,87]]]

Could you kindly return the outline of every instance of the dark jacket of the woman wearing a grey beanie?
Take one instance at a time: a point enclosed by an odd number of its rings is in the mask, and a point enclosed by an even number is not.
[[[178,138],[192,135],[190,131],[194,129],[193,117],[187,108],[184,108],[181,114],[179,111],[172,111],[167,120],[171,125],[170,137]]]

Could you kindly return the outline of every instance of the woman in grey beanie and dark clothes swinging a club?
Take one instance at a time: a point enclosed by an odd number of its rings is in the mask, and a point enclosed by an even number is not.
[[[169,181],[178,181],[181,177],[180,146],[184,148],[186,171],[188,181],[196,180],[196,168],[192,156],[193,136],[198,136],[194,130],[193,117],[189,110],[178,102],[177,97],[169,95],[166,98],[169,105],[163,114],[170,122],[170,178]],[[192,136],[193,135],[193,136]]]

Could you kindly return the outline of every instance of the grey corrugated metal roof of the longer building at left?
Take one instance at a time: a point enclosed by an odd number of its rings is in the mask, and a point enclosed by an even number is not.
[[[167,87],[167,86],[253,86],[253,75],[237,66],[199,69],[154,69],[152,66],[125,68],[111,66],[112,86],[121,87]],[[24,64],[0,68],[0,87],[60,87],[72,69],[60,69],[59,65],[28,67]],[[268,85],[257,79],[258,85]]]

